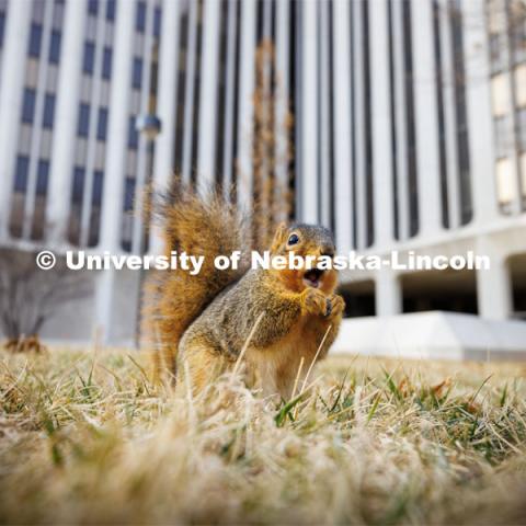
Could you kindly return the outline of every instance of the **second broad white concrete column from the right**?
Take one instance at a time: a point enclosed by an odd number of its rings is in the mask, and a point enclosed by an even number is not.
[[[433,3],[411,1],[419,217],[422,237],[442,229]]]

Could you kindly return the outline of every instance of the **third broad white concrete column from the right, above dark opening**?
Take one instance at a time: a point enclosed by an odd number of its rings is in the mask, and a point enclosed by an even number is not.
[[[373,87],[375,247],[378,249],[391,243],[393,225],[392,134],[387,1],[388,0],[373,0],[369,3],[370,26],[375,28],[375,37],[370,39],[370,71]]]

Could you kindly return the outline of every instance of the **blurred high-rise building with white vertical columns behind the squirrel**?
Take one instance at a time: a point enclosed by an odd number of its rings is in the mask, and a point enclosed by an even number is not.
[[[526,351],[524,0],[0,0],[0,68],[10,256],[158,252],[142,188],[178,172],[344,254],[491,256],[343,273],[338,350]],[[43,335],[133,341],[140,273],[87,278]]]

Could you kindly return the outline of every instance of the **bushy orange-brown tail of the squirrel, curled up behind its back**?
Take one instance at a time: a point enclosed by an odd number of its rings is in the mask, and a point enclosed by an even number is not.
[[[190,324],[228,285],[247,272],[248,220],[238,208],[213,188],[194,188],[176,181],[162,197],[157,210],[164,238],[165,255],[204,256],[201,272],[159,271],[153,282],[155,294],[150,306],[150,330],[155,333],[155,367],[176,374],[180,340]],[[241,250],[243,258],[237,270],[217,270],[217,255],[229,256]],[[152,312],[151,312],[152,310]]]

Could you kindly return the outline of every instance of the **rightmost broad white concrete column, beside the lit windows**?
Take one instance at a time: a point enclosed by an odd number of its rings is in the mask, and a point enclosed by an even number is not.
[[[491,224],[499,217],[485,2],[470,0],[461,2],[460,7],[473,222],[483,225]]]

